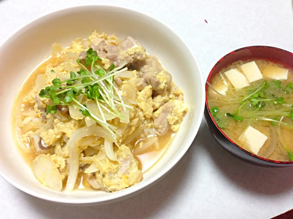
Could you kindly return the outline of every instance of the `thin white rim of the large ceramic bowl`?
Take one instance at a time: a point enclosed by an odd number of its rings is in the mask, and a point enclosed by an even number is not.
[[[74,7],[69,7],[69,8],[65,8],[65,9],[60,9],[54,12],[51,12],[49,14],[46,14],[44,16],[41,16],[37,19],[34,19],[33,21],[25,24],[23,27],[21,27],[19,30],[17,30],[15,33],[13,33],[11,36],[9,36],[9,38],[1,45],[1,47],[6,44],[6,43],[10,43],[10,41],[13,41],[15,38],[18,38],[21,36],[21,34],[23,32],[26,31],[26,27],[35,24],[35,23],[39,23],[41,22],[43,19],[48,19],[51,16],[56,16],[57,14],[63,13],[65,11],[71,11],[71,10],[78,10],[81,8],[87,8],[87,7],[101,7],[101,8],[116,8],[116,9],[121,9],[121,10],[128,10],[129,12],[132,13],[136,13],[139,14],[141,16],[147,16],[150,19],[153,19],[154,21],[156,21],[157,23],[160,23],[162,26],[165,26],[167,29],[171,30],[173,34],[175,34],[175,36],[177,36],[182,43],[186,46],[186,48],[188,49],[188,51],[190,52],[190,54],[192,54],[192,57],[194,59],[194,62],[196,63],[196,65],[198,66],[198,71],[200,73],[200,77],[198,78],[200,80],[200,85],[201,85],[201,91],[202,91],[202,96],[201,96],[201,102],[197,103],[198,107],[201,107],[199,110],[199,117],[198,117],[198,123],[196,124],[196,126],[194,127],[193,132],[190,134],[189,136],[189,140],[187,142],[186,145],[184,145],[184,147],[182,147],[181,151],[176,155],[176,157],[172,160],[172,162],[170,163],[170,165],[165,166],[163,168],[161,168],[160,172],[156,173],[153,177],[151,177],[150,179],[148,179],[148,181],[146,183],[144,182],[139,182],[134,186],[128,187],[126,189],[120,190],[119,192],[115,192],[112,193],[112,196],[106,196],[106,197],[86,197],[86,198],[80,198],[79,200],[76,199],[70,199],[70,198],[60,198],[60,197],[51,197],[51,196],[46,196],[34,191],[31,191],[30,189],[27,189],[25,186],[21,185],[21,183],[18,183],[16,181],[13,181],[11,178],[9,178],[9,176],[5,176],[4,173],[1,171],[0,169],[0,176],[5,179],[7,182],[9,182],[11,185],[13,185],[14,187],[16,187],[17,189],[20,189],[21,191],[38,197],[40,199],[43,200],[48,200],[48,201],[52,201],[52,202],[57,202],[57,203],[66,203],[66,204],[90,204],[90,203],[103,203],[103,202],[107,202],[110,200],[117,200],[119,198],[122,198],[123,196],[127,196],[127,195],[134,195],[138,194],[140,192],[142,192],[145,187],[150,187],[151,185],[154,185],[155,181],[158,181],[158,179],[160,179],[162,176],[164,176],[166,173],[168,173],[178,162],[179,160],[185,155],[186,151],[189,149],[190,145],[192,144],[192,142],[194,141],[194,138],[196,137],[196,134],[199,130],[199,127],[201,125],[201,121],[202,121],[202,117],[204,114],[204,106],[205,106],[205,89],[204,89],[204,78],[202,75],[202,71],[201,71],[201,67],[197,61],[197,59],[195,58],[193,52],[190,50],[190,48],[188,47],[187,43],[171,28],[169,28],[167,25],[165,25],[164,23],[162,23],[161,21],[155,19],[152,16],[149,16],[147,14],[144,14],[142,12],[138,12],[132,9],[128,9],[128,8],[124,8],[124,7],[118,7],[118,6],[113,6],[113,5],[81,5],[81,6],[74,6]],[[126,198],[126,197],[125,197]],[[118,200],[117,200],[118,201]],[[113,201],[114,202],[114,201]]]

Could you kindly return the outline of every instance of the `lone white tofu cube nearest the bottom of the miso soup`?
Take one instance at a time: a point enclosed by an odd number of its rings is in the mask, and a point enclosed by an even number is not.
[[[259,130],[249,126],[241,137],[241,141],[244,142],[249,150],[257,155],[263,144],[266,142],[268,137],[262,134]]]

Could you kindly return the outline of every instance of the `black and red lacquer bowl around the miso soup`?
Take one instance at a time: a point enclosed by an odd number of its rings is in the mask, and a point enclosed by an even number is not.
[[[238,60],[248,60],[248,59],[265,59],[268,61],[273,61],[275,63],[282,64],[286,68],[293,67],[293,53],[286,50],[282,50],[276,47],[269,46],[250,46],[237,49],[230,52],[229,54],[222,57],[212,68],[208,75],[207,82],[212,82],[214,76],[222,69],[226,68],[231,63]],[[205,92],[207,94],[208,85],[205,85]],[[208,124],[209,130],[211,131],[215,140],[227,151],[245,161],[262,165],[262,166],[274,166],[274,167],[284,167],[292,166],[293,162],[281,162],[269,160],[266,158],[259,157],[244,150],[239,145],[235,144],[229,137],[227,137],[222,130],[217,126],[217,123],[212,118],[208,107],[207,95],[205,99],[205,109],[204,117]],[[292,139],[293,140],[293,139]]]

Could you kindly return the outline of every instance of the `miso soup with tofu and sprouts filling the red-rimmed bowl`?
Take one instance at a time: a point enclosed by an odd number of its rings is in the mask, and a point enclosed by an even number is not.
[[[292,82],[292,70],[280,64],[240,60],[215,75],[208,106],[222,131],[245,150],[293,161]]]

